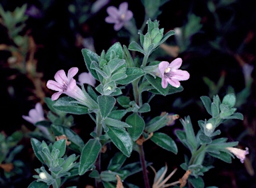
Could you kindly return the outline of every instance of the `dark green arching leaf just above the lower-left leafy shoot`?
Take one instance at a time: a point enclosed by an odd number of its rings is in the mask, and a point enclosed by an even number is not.
[[[55,136],[67,136],[67,139],[71,141],[71,144],[68,147],[79,153],[82,151],[85,143],[75,132],[73,132],[73,130],[65,126],[59,126],[55,124],[51,124],[51,130],[53,130]]]

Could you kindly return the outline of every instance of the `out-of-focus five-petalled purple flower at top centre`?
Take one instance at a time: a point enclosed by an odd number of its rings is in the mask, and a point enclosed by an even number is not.
[[[123,25],[133,17],[133,12],[128,10],[128,3],[123,2],[119,5],[119,9],[110,6],[107,7],[108,17],[105,18],[107,23],[115,23],[115,31],[119,31]]]

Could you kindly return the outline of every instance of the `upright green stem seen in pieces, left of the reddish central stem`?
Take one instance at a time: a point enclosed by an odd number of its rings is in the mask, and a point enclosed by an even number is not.
[[[101,124],[101,114],[96,114],[96,134],[97,137],[101,136],[102,133],[102,124]],[[101,153],[99,153],[96,161],[95,161],[95,167],[99,173],[101,173]],[[95,179],[95,185],[97,188],[103,187],[102,182]]]

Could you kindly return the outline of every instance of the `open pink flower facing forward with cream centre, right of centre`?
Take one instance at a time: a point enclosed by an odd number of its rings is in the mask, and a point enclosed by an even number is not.
[[[179,81],[189,79],[189,72],[178,69],[181,67],[181,64],[181,58],[175,58],[175,60],[173,60],[171,63],[167,61],[162,61],[159,63],[159,77],[162,78],[161,84],[163,88],[167,88],[168,83],[171,84],[171,86],[178,88],[181,85]]]

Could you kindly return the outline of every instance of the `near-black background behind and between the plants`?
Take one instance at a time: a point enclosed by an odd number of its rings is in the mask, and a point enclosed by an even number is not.
[[[24,31],[21,35],[25,35],[29,31],[29,35],[33,37],[35,43],[38,45],[35,53],[37,59],[37,72],[42,72],[43,82],[52,80],[57,70],[63,69],[67,72],[69,68],[77,66],[80,72],[87,72],[81,48],[83,46],[77,45],[77,35],[81,37],[92,37],[94,40],[94,47],[97,54],[102,50],[107,50],[113,43],[119,41],[122,45],[129,45],[129,35],[125,29],[117,32],[113,30],[113,25],[105,23],[107,17],[106,8],[109,5],[118,7],[123,1],[109,1],[109,4],[103,7],[95,15],[87,15],[85,21],[81,21],[83,14],[87,12],[77,12],[72,14],[69,11],[70,5],[77,7],[89,6],[94,1],[12,1],[2,0],[0,4],[5,10],[13,11],[15,7],[20,7],[24,3],[27,5],[35,5],[39,11],[39,17],[29,17],[26,21]],[[129,10],[133,11],[133,15],[140,28],[143,23],[145,11],[141,1],[127,1],[129,3]],[[255,65],[255,27],[256,27],[256,11],[254,1],[237,0],[230,5],[219,7],[215,13],[219,16],[221,21],[221,29],[216,27],[215,17],[213,13],[207,8],[208,1],[168,1],[161,7],[162,13],[157,17],[160,23],[160,28],[164,28],[165,32],[174,29],[175,27],[182,27],[187,22],[187,15],[193,13],[201,18],[201,30],[192,35],[191,44],[187,50],[179,53],[179,57],[183,58],[183,69],[187,70],[191,78],[185,82],[181,82],[184,90],[181,93],[173,94],[171,96],[155,96],[151,101],[151,112],[145,114],[145,119],[159,116],[161,112],[170,112],[179,114],[181,118],[190,116],[195,127],[198,130],[198,120],[205,120],[209,118],[206,110],[200,101],[200,96],[209,96],[209,87],[203,81],[203,77],[207,76],[213,82],[217,83],[221,74],[225,74],[225,82],[219,92],[220,98],[227,94],[229,87],[233,88],[235,94],[238,94],[245,88],[245,80],[243,77],[242,67],[239,64],[235,54],[239,54],[245,62],[250,65]],[[220,1],[213,1],[219,3]],[[87,13],[88,14],[88,13]],[[224,29],[230,18],[233,18],[232,24]],[[80,21],[79,21],[80,20]],[[193,28],[191,28],[193,29]],[[252,35],[245,43],[248,35]],[[11,45],[13,42],[7,35],[7,30],[3,25],[0,25],[0,43]],[[215,41],[217,37],[221,37],[223,43],[220,48],[213,48],[209,42]],[[175,38],[171,37],[167,40],[170,45],[175,45]],[[163,55],[162,55],[163,54]],[[34,127],[25,122],[21,118],[22,115],[27,115],[31,108],[34,108],[35,103],[41,101],[41,98],[33,96],[33,83],[27,78],[27,74],[23,74],[15,68],[11,68],[7,63],[7,59],[11,53],[7,50],[0,51],[0,97],[1,97],[1,126],[0,130],[10,135],[15,130],[20,130],[25,126],[29,130]],[[167,60],[171,62],[173,56],[161,53],[157,56],[157,60]],[[241,112],[245,116],[244,121],[230,120],[229,123],[220,126],[222,131],[221,136],[229,138],[230,141],[239,141],[243,148],[249,147],[250,155],[248,159],[251,161],[252,167],[256,169],[255,165],[255,70],[253,70],[251,77],[253,83],[249,89],[249,96],[243,98],[241,106],[237,107],[237,112]],[[51,90],[44,88],[45,96],[51,96]],[[147,96],[145,96],[147,97]],[[47,107],[44,105],[45,111]],[[89,116],[74,116],[75,130],[79,132],[81,138],[88,140],[89,133],[93,131],[93,123],[90,122]],[[160,131],[169,134],[174,140],[176,136],[173,135],[173,130],[181,129],[181,123],[176,121],[175,126],[162,128]],[[246,133],[245,136],[241,135]],[[33,169],[40,167],[36,159],[31,162],[31,146],[29,140],[23,140],[26,145],[23,154],[17,156],[21,157],[28,165],[27,175],[19,181],[19,186],[27,187],[33,178]],[[174,155],[154,145],[153,142],[145,143],[146,159],[153,163],[155,169],[160,169],[167,162],[169,171],[183,163],[184,153],[188,151],[177,141],[179,153]],[[27,149],[27,150],[26,150]],[[29,152],[26,152],[29,151]],[[111,153],[112,152],[112,153]],[[115,153],[113,149],[109,155]],[[133,153],[131,159],[128,161],[138,160],[137,153]],[[233,159],[231,164],[223,161],[209,159],[209,163],[213,163],[214,169],[205,173],[203,179],[205,185],[215,185],[221,188],[227,187],[256,187],[255,175],[249,175],[247,168],[241,164],[239,159]],[[183,170],[178,169],[173,177],[176,181],[183,175]],[[153,180],[153,171],[149,169],[149,177]],[[141,173],[137,173],[129,177],[127,181],[133,182],[138,186],[143,187],[143,179]],[[91,180],[87,179],[86,175],[79,178],[79,187],[85,187]],[[13,181],[15,183],[15,181]],[[138,183],[141,183],[139,185]]]

